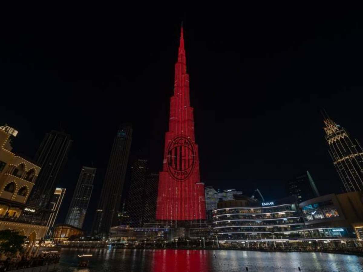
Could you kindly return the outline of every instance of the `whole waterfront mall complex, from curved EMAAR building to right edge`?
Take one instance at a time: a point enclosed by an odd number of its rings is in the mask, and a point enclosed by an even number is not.
[[[363,226],[358,222],[359,214],[363,213],[358,194],[354,203],[360,211],[355,213],[355,219],[351,215],[354,209],[348,209],[352,222],[347,220],[347,211],[343,212],[344,205],[336,201],[341,198],[349,203],[347,196],[327,195],[298,204],[295,196],[261,202],[235,195],[234,200],[219,202],[218,209],[213,210],[213,235],[221,244],[265,247],[311,241],[354,242],[359,238],[359,227]]]

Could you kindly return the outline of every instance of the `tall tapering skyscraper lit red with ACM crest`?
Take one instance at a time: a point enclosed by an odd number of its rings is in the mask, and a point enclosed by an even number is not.
[[[163,171],[159,175],[156,219],[205,219],[204,184],[199,178],[198,145],[194,138],[183,28],[178,62],[175,64],[174,95],[170,99],[169,131],[165,135]]]

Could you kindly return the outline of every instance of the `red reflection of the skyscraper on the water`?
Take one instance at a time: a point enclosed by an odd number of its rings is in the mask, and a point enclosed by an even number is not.
[[[151,272],[210,271],[205,250],[155,250]]]

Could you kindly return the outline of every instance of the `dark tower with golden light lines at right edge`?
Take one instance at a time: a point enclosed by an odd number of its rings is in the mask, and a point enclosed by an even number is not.
[[[363,149],[358,140],[323,113],[325,139],[335,169],[347,192],[363,190]]]

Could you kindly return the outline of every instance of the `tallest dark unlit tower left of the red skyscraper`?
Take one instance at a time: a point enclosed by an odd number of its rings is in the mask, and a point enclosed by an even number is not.
[[[92,232],[97,236],[108,236],[110,227],[118,225],[121,208],[121,194],[127,162],[129,161],[132,128],[130,124],[121,125],[115,136],[103,180],[101,198],[98,202]]]

